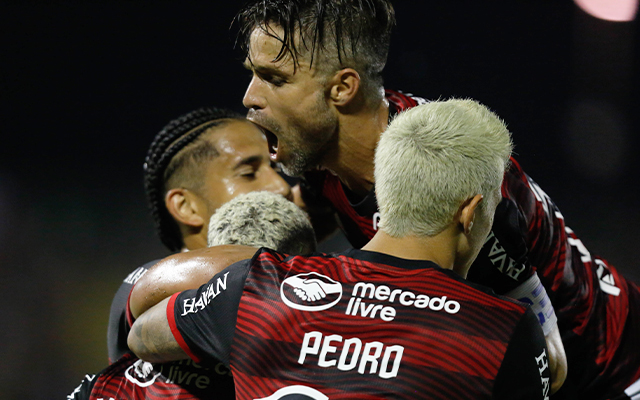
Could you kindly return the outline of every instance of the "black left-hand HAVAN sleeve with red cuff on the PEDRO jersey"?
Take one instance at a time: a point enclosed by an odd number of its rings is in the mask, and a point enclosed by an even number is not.
[[[198,364],[222,361],[229,353],[251,260],[239,261],[198,289],[171,296],[167,320],[180,347]]]

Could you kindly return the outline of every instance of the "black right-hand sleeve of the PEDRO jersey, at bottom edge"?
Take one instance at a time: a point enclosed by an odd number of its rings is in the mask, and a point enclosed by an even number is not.
[[[538,319],[527,309],[516,326],[496,376],[495,400],[549,398],[551,371],[547,345]]]

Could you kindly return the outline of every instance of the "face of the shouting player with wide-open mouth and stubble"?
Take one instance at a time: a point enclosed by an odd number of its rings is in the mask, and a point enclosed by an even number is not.
[[[282,37],[279,27],[268,29]],[[332,150],[338,120],[327,102],[326,79],[310,68],[310,56],[298,57],[296,68],[289,55],[274,62],[281,47],[261,27],[254,29],[245,61],[252,78],[243,103],[249,108],[247,119],[265,130],[271,160],[286,174],[300,176]]]

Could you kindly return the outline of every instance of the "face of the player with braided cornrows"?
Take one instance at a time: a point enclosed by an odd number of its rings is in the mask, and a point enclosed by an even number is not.
[[[254,191],[274,192],[292,200],[290,186],[271,167],[267,140],[258,127],[230,120],[209,135],[220,153],[207,165],[200,193],[209,214],[236,196]]]

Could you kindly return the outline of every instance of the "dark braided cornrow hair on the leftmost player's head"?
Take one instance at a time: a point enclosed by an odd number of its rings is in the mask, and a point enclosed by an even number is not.
[[[243,120],[244,117],[223,108],[199,108],[169,122],[151,142],[144,163],[144,189],[156,231],[171,251],[179,251],[183,241],[178,224],[164,202],[167,166],[180,150],[224,119]]]

